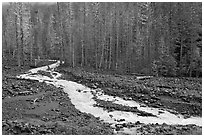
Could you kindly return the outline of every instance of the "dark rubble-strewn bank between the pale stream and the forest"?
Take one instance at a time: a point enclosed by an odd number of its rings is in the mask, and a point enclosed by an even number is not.
[[[107,95],[125,100],[139,101],[155,108],[175,110],[186,117],[202,116],[201,78],[150,78],[138,80],[136,76],[102,74],[80,68],[58,68],[64,79],[101,88]]]

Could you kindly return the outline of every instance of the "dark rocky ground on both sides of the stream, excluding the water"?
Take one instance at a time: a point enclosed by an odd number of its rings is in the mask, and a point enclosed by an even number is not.
[[[46,83],[17,79],[29,70],[3,60],[2,66],[2,133],[3,134],[114,134],[113,128],[91,114],[80,112],[67,93]],[[15,63],[13,63],[15,64]],[[150,78],[138,80],[133,75],[58,67],[62,79],[89,88],[101,88],[107,95],[134,100],[155,108],[168,108],[186,118],[202,117],[201,78]],[[96,100],[108,110],[134,111],[132,108]],[[142,114],[141,115],[145,115]],[[135,127],[135,134],[202,134],[202,127],[190,125],[144,124],[116,125],[117,134],[124,127]]]

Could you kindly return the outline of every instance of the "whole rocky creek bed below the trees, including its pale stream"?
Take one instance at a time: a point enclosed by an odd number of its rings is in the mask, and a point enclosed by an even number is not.
[[[53,81],[58,72],[63,75]],[[80,69],[59,67],[58,72],[32,73],[44,82],[15,79],[4,72],[3,134],[202,134],[200,83],[191,80],[197,84],[193,88]],[[151,121],[163,113],[180,115],[184,121]],[[126,119],[124,114],[135,117]]]

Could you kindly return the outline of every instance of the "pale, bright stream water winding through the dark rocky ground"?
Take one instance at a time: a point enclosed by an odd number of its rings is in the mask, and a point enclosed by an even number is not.
[[[100,89],[94,90],[73,81],[62,80],[60,79],[61,74],[54,71],[54,68],[58,67],[59,65],[60,65],[60,62],[57,61],[56,63],[49,65],[49,69],[51,70],[48,70],[48,66],[39,67],[39,68],[31,69],[27,73],[17,77],[23,78],[23,79],[38,80],[39,82],[44,81],[47,84],[53,84],[56,87],[63,88],[64,92],[66,92],[69,95],[69,98],[71,99],[72,104],[75,105],[76,109],[80,110],[81,112],[90,113],[95,117],[99,117],[100,120],[103,120],[104,122],[112,124],[112,127],[114,127],[115,124],[122,124],[122,123],[129,123],[129,122],[135,123],[137,121],[145,124],[149,124],[149,123],[158,123],[158,124],[166,123],[171,125],[195,124],[198,126],[202,126],[202,117],[184,118],[183,115],[176,115],[176,114],[170,113],[169,110],[152,108],[135,101],[123,100],[120,97],[105,95],[103,91]],[[49,72],[53,76],[53,78],[37,74],[37,71],[39,70]],[[78,91],[81,91],[81,92],[78,92]],[[156,117],[138,116],[136,113],[125,112],[125,111],[108,112],[101,107],[94,106],[94,104],[96,104],[96,101],[93,99],[94,95],[96,98],[100,100],[111,101],[112,103],[121,104],[129,107],[137,107],[138,110],[152,113],[153,115],[156,115]],[[120,121],[121,119],[123,120]],[[134,128],[132,129],[124,128],[124,129],[125,130],[123,130],[123,132],[130,133],[131,130],[133,130]]]

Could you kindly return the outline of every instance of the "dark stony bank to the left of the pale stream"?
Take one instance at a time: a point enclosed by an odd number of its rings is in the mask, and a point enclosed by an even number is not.
[[[29,67],[3,67],[2,134],[110,135],[98,118],[82,113],[60,88],[16,76]]]

